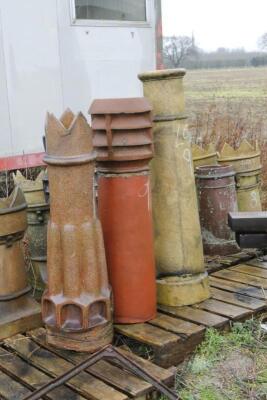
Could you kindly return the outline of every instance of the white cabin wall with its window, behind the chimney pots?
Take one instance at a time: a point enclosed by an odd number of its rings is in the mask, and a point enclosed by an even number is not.
[[[142,95],[160,22],[159,0],[0,0],[0,170],[40,162],[47,110]]]

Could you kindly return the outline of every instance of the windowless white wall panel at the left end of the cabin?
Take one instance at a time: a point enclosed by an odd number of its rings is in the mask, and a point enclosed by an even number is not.
[[[56,1],[3,0],[1,14],[13,152],[40,151],[46,110],[62,111]]]

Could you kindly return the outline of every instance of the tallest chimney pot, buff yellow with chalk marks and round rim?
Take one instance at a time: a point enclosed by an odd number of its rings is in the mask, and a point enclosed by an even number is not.
[[[186,129],[184,69],[140,74],[154,113],[151,161],[158,302],[195,304],[210,296]]]

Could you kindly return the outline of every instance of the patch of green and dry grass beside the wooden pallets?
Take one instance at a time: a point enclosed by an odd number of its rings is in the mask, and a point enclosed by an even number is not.
[[[267,399],[267,339],[259,321],[235,323],[224,334],[208,329],[178,367],[175,386],[181,400]]]

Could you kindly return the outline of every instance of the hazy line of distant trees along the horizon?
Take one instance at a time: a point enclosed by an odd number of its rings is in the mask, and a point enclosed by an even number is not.
[[[195,44],[194,36],[172,36],[163,38],[163,57],[166,68],[184,67],[230,68],[259,67],[267,65],[267,32],[259,39],[259,51],[247,52],[244,49],[218,48],[206,52]]]

